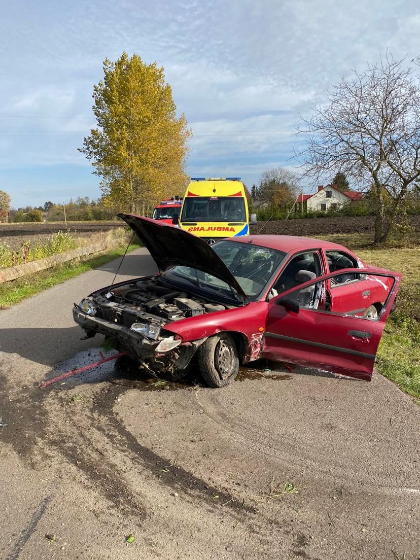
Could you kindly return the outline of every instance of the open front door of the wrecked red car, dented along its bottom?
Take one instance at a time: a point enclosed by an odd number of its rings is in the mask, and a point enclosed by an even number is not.
[[[346,269],[346,273],[353,272],[360,274],[361,270]],[[334,306],[327,303],[326,281],[340,274],[343,270],[305,282],[268,302],[262,357],[371,380],[401,274],[363,269],[363,275],[381,287],[379,301],[365,301],[366,308],[375,303],[380,309],[377,319],[363,317],[364,310],[328,311]],[[354,283],[354,290],[358,284],[363,283]]]

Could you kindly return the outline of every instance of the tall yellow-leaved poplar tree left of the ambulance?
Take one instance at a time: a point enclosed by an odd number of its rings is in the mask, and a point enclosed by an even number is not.
[[[125,52],[116,62],[105,59],[92,97],[97,128],[80,151],[101,177],[104,202],[138,214],[160,198],[184,194],[191,132],[185,115],[176,116],[164,68]]]

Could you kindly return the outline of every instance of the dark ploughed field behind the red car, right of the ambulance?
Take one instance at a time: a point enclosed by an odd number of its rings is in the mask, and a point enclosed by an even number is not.
[[[302,220],[277,220],[251,225],[252,235],[329,235],[373,234],[374,216],[337,216],[334,218],[302,218]],[[413,227],[420,230],[420,216],[410,216]]]

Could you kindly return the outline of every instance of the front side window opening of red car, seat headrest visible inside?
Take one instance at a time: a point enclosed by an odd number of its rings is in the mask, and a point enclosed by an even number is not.
[[[321,262],[318,251],[300,253],[293,257],[282,270],[270,292],[274,297],[299,284],[309,282],[321,274]]]

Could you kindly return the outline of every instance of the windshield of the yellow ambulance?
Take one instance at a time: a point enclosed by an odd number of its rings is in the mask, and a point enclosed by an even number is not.
[[[245,222],[243,197],[190,197],[184,200],[182,222]]]

